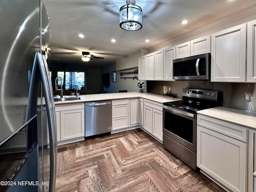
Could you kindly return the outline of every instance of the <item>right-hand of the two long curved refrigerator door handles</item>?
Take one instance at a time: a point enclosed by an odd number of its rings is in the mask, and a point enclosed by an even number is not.
[[[56,137],[56,120],[54,110],[54,98],[52,85],[50,82],[47,62],[39,52],[37,54],[38,67],[42,80],[42,87],[45,92],[45,102],[48,118],[49,138],[50,138],[50,185],[49,192],[54,192],[56,177],[56,160],[57,160],[57,137]]]

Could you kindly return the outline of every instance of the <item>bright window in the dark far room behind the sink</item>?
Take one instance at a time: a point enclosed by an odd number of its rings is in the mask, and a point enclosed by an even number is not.
[[[77,87],[78,90],[86,89],[85,72],[70,72],[58,71],[58,76],[63,80],[63,89],[69,90]],[[60,85],[60,78],[58,78],[58,85]]]

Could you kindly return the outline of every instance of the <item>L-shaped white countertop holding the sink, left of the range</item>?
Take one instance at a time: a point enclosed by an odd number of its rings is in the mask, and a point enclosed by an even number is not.
[[[76,96],[66,96],[66,97],[76,97]],[[55,105],[66,104],[66,103],[76,103],[76,102],[92,102],[92,101],[114,100],[114,99],[124,99],[124,98],[139,98],[139,97],[152,100],[155,102],[159,102],[159,103],[181,100],[178,98],[168,98],[168,97],[157,95],[157,94],[140,93],[140,92],[90,94],[90,95],[80,95],[79,97],[81,98],[81,100],[58,101],[58,102],[55,102]]]

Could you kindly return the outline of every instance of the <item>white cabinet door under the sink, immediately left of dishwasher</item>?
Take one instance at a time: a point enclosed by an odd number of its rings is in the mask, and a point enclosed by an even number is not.
[[[84,109],[60,111],[61,140],[84,136]]]

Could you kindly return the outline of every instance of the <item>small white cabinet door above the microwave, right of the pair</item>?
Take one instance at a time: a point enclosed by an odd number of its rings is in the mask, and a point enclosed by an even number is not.
[[[191,56],[210,53],[210,35],[190,41]]]

